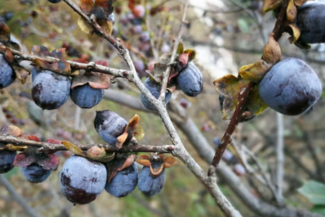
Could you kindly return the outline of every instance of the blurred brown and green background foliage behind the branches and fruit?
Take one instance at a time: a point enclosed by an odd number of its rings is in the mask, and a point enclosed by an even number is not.
[[[181,0],[139,1],[146,6],[163,6],[163,10],[159,13],[154,16],[148,15],[150,31],[154,35],[159,56],[172,47],[172,39],[177,35],[182,17],[182,2]],[[228,122],[221,120],[218,93],[214,89],[213,81],[228,73],[236,75],[240,66],[253,63],[261,57],[275,18],[272,13],[266,15],[261,13],[261,1],[192,0],[189,2],[188,23],[183,33],[183,42],[185,47],[192,47],[198,53],[195,62],[202,70],[204,88],[202,94],[196,98],[188,98],[177,92],[173,94],[173,98],[175,100],[187,98],[191,104],[187,108],[188,113],[201,129],[202,134],[211,141],[211,146],[214,146],[213,138],[222,137]],[[151,51],[143,48],[143,43],[138,40],[139,35],[133,32],[130,23],[123,24],[123,19],[130,13],[127,1],[116,0],[114,4],[115,8],[121,9],[121,13],[114,12],[116,22],[113,35],[122,38],[134,51],[131,55],[135,62],[143,61],[148,68],[150,62],[154,61]],[[87,35],[78,30],[76,25],[78,15],[64,2],[51,4],[46,0],[0,0],[0,17],[23,43],[25,52],[29,52],[32,45],[45,45],[52,50],[67,46],[68,43],[74,49],[71,50],[72,59],[84,55],[83,57],[88,61],[105,59],[109,61],[110,67],[127,69],[123,58],[108,42],[96,35]],[[143,29],[147,28],[145,22],[142,26]],[[324,83],[325,46],[313,45],[311,50],[302,51],[290,45],[288,37],[289,35],[284,34],[279,41],[283,57],[292,56],[306,60]],[[139,75],[143,76],[143,71],[139,72]],[[91,139],[96,143],[103,143],[95,131],[93,120],[96,110],[110,109],[126,120],[131,119],[135,113],[140,116],[140,123],[145,131],[142,144],[171,143],[158,116],[132,110],[109,100],[103,100],[94,108],[82,109],[80,124],[75,127],[75,114],[78,108],[70,99],[57,110],[42,111],[26,97],[30,96],[31,87],[31,78],[28,78],[24,85],[15,81],[10,87],[0,91],[0,105],[8,120],[20,125],[19,127],[28,134],[36,134],[43,139],[66,139],[84,144],[89,143]],[[139,97],[135,87],[123,80],[112,83],[110,88]],[[323,198],[323,202],[315,203],[308,200],[308,194],[315,193],[313,190],[302,188],[299,193],[297,189],[310,180],[319,182],[309,182],[311,186],[317,184],[323,186],[321,183],[324,183],[325,123],[322,121],[325,117],[324,104],[325,100],[322,96],[311,112],[296,117],[284,117],[285,202],[301,209],[312,209],[313,204],[316,204],[314,211],[317,212],[324,211],[325,199]],[[41,123],[37,124],[35,116],[39,114],[42,114]],[[234,133],[237,143],[245,144],[272,177],[276,170],[275,116],[273,110],[266,109],[252,121],[241,123]],[[189,153],[207,171],[208,164],[200,158],[179,129],[178,132]],[[143,196],[137,188],[125,198],[114,198],[104,191],[89,205],[73,206],[58,189],[58,174],[69,153],[63,152],[61,155],[58,170],[52,172],[43,183],[27,182],[18,167],[5,174],[27,203],[44,216],[224,216],[203,185],[182,163],[166,170],[166,185],[160,194],[151,198]],[[241,179],[256,197],[269,201],[271,197],[269,190],[256,182],[252,175],[246,174]],[[219,183],[222,192],[243,216],[257,216],[232,192],[227,183],[223,180],[219,180]],[[26,216],[19,204],[1,185],[0,216]]]

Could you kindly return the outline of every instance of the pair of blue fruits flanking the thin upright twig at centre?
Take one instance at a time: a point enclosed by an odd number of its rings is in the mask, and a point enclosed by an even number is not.
[[[175,86],[176,89],[180,89],[187,96],[198,96],[202,92],[203,88],[203,76],[201,70],[193,62],[188,62],[187,66],[181,70],[175,78]],[[156,83],[153,79],[147,78],[144,82],[145,87],[150,91],[150,93],[156,97],[156,99],[160,96],[161,84]],[[172,92],[166,90],[165,93],[165,103],[167,104],[172,96]],[[155,107],[152,103],[149,102],[147,98],[141,94],[141,102],[142,104],[150,109],[155,110]]]

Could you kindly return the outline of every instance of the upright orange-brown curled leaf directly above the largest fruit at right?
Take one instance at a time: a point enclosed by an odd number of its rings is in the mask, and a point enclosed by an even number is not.
[[[262,59],[267,63],[272,63],[273,65],[280,61],[281,55],[281,48],[278,42],[274,39],[274,33],[271,33],[268,42],[264,47]]]

